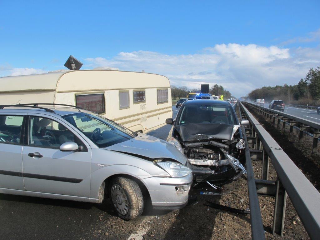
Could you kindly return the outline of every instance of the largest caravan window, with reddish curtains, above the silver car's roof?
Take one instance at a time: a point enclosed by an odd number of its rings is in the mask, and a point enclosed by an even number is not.
[[[76,106],[95,113],[105,113],[104,93],[76,95]]]

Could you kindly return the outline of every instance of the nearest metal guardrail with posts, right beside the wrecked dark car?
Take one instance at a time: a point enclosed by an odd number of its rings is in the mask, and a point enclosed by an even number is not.
[[[285,203],[287,193],[311,239],[319,239],[320,233],[320,193],[303,175],[289,156],[282,150],[269,133],[259,124],[252,114],[239,103],[242,117],[249,120],[245,129],[247,143],[254,146],[250,149],[252,160],[262,161],[261,180],[254,179],[258,196],[275,197],[274,220],[272,232],[283,236]],[[248,145],[247,144],[247,145]],[[278,179],[268,180],[269,161],[271,160]],[[247,166],[248,171],[248,166]],[[249,171],[248,171],[249,172]],[[251,180],[252,176],[250,176]],[[252,181],[252,180],[251,180]],[[248,174],[248,190],[249,174]],[[250,195],[249,195],[250,200]],[[251,212],[251,202],[250,212]],[[258,205],[259,206],[259,205]],[[259,209],[260,212],[260,209]],[[252,229],[252,239],[254,229]]]

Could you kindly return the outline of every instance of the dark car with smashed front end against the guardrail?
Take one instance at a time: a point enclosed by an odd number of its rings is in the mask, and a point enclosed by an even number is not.
[[[173,125],[167,141],[188,158],[195,183],[222,185],[246,174],[243,134],[230,103],[187,101],[166,123]]]

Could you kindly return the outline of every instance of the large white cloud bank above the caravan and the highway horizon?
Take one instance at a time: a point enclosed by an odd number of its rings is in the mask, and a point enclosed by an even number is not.
[[[108,66],[167,76],[172,85],[198,88],[220,84],[238,97],[261,86],[297,84],[309,68],[320,65],[320,50],[255,44],[217,44],[200,53],[120,52],[106,59],[85,59],[85,67]]]

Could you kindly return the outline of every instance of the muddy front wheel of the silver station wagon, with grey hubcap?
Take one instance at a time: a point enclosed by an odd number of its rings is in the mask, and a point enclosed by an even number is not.
[[[124,177],[114,178],[110,185],[109,196],[118,216],[124,220],[135,219],[143,212],[142,192],[134,180]]]

